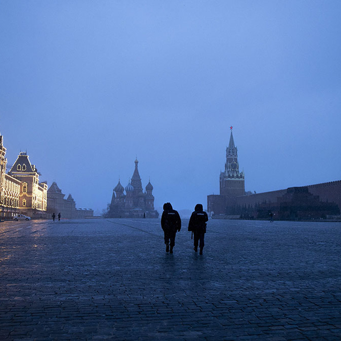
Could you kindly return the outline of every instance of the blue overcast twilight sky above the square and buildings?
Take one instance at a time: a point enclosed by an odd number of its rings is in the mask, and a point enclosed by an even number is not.
[[[139,161],[155,207],[341,179],[341,1],[0,0],[0,131],[101,211]]]

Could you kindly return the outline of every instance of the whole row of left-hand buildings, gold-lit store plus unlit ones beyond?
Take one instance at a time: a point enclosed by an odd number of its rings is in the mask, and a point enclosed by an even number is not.
[[[11,218],[24,214],[33,219],[49,219],[53,212],[61,212],[62,218],[85,218],[93,216],[91,209],[76,209],[71,194],[63,199],[54,182],[47,189],[46,181],[39,182],[41,175],[31,164],[26,152],[20,152],[13,166],[6,174],[6,148],[0,133],[0,217]],[[58,192],[56,190],[60,192]],[[58,193],[55,193],[55,192]],[[57,197],[57,199],[56,199]],[[70,197],[72,201],[70,200]]]

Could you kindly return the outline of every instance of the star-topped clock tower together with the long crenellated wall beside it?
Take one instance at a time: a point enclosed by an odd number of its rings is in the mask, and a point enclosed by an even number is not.
[[[219,195],[207,196],[207,211],[214,217],[269,217],[275,219],[320,219],[339,216],[341,180],[283,190],[245,192],[243,172],[239,172],[237,147],[232,134],[226,148],[225,170],[219,176]]]

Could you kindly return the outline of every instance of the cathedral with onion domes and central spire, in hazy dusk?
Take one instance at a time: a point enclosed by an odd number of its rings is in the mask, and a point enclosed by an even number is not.
[[[114,188],[111,203],[105,216],[107,218],[158,218],[159,213],[154,209],[153,186],[148,182],[143,192],[142,181],[138,173],[138,161],[131,181],[124,188],[120,181]],[[125,190],[125,194],[124,194]]]

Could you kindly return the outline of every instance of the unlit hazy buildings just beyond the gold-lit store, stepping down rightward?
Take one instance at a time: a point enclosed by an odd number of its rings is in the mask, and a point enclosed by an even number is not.
[[[92,209],[76,208],[76,203],[71,194],[64,199],[65,194],[58,187],[56,182],[53,182],[47,190],[47,213],[49,217],[53,213],[60,213],[62,218],[67,219],[84,219],[93,216]]]

